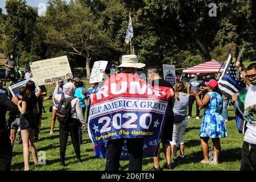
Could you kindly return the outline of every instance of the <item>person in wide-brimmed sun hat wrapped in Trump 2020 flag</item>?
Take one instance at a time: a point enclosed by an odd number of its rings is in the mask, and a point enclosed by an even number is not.
[[[122,72],[110,76],[92,97],[89,137],[96,154],[106,156],[107,171],[117,171],[119,160],[125,156],[129,170],[141,171],[142,158],[157,154],[168,101],[174,92],[135,76],[144,66],[135,55],[122,56]]]

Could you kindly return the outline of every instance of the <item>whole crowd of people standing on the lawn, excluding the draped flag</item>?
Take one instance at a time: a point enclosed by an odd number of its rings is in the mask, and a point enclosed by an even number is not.
[[[6,61],[6,80],[10,77],[11,83],[19,82],[19,77],[10,74],[9,69],[13,69],[15,64],[11,60]],[[135,74],[137,69],[145,67],[145,64],[138,63],[137,56],[124,55],[122,64],[118,68],[121,72],[118,74]],[[246,93],[250,98],[243,101],[244,110],[250,112],[244,115],[246,119],[247,130],[245,133],[242,147],[241,170],[256,169],[256,64],[249,65],[246,69],[237,64],[240,69],[243,81],[247,84]],[[8,70],[7,70],[8,68]],[[107,73],[107,71],[106,71]],[[7,89],[3,88],[6,84],[0,80],[0,170],[11,169],[12,148],[14,146],[15,135],[20,130],[23,144],[24,170],[30,170],[29,158],[30,152],[35,165],[38,165],[38,156],[34,142],[39,141],[40,123],[42,112],[44,110],[43,101],[52,98],[52,106],[49,109],[52,112],[51,129],[49,134],[55,133],[56,119],[59,121],[59,143],[60,143],[60,166],[65,164],[65,150],[69,134],[71,135],[73,148],[75,150],[77,162],[81,163],[80,145],[82,144],[82,130],[88,127],[88,118],[90,110],[90,100],[94,93],[101,87],[101,83],[93,83],[89,89],[85,89],[85,84],[80,78],[75,77],[67,81],[56,82],[53,92],[47,96],[47,89],[44,85],[36,89],[35,82],[30,80],[32,73],[27,69],[25,78],[28,79],[26,86],[19,88],[19,96],[13,97]],[[166,118],[162,131],[162,151],[166,156],[166,168],[172,170],[172,162],[185,159],[185,142],[183,135],[188,125],[189,118],[192,118],[192,107],[196,101],[196,119],[200,119],[200,110],[204,109],[201,129],[199,131],[200,143],[203,152],[203,164],[218,164],[218,158],[221,155],[220,139],[228,137],[225,122],[228,121],[229,101],[241,100],[241,90],[235,96],[228,96],[218,89],[218,76],[214,79],[210,75],[201,76],[196,73],[195,78],[188,82],[187,90],[183,82],[176,81],[171,85],[161,76],[161,70],[158,66],[148,69],[148,82],[152,86],[164,86],[171,89],[171,99],[168,102]],[[36,92],[35,92],[36,90]],[[186,92],[187,91],[187,92]],[[9,111],[9,119],[6,127],[6,112]],[[87,111],[87,112],[86,112]],[[86,113],[86,119],[85,119]],[[10,132],[9,130],[10,129]],[[10,133],[10,134],[9,134]],[[214,146],[214,158],[209,161],[208,140],[211,139]],[[106,171],[117,171],[119,168],[119,158],[123,142],[126,140],[129,151],[129,170],[142,170],[143,138],[113,139],[109,140],[106,147]],[[177,151],[180,155],[177,155]],[[152,160],[154,165],[151,170],[159,171],[162,168],[159,163],[160,148],[158,155]],[[171,156],[173,155],[173,161]]]

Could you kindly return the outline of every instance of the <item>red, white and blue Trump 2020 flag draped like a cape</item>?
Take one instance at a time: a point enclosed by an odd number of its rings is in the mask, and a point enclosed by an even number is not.
[[[143,138],[143,158],[155,156],[170,97],[170,88],[152,86],[133,74],[110,76],[94,94],[89,111],[95,155],[105,158],[109,140]],[[126,143],[120,159],[129,160]]]

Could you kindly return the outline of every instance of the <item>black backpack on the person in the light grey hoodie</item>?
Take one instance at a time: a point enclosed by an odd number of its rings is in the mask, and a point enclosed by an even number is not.
[[[57,119],[60,123],[68,123],[71,118],[71,101],[76,98],[75,96],[65,98],[64,94],[61,96],[58,109],[56,111]]]

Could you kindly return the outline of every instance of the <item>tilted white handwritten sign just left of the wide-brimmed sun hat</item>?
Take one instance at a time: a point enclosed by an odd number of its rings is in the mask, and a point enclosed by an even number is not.
[[[92,72],[90,73],[90,84],[101,82],[104,76],[104,72],[108,61],[96,61],[93,64]]]

